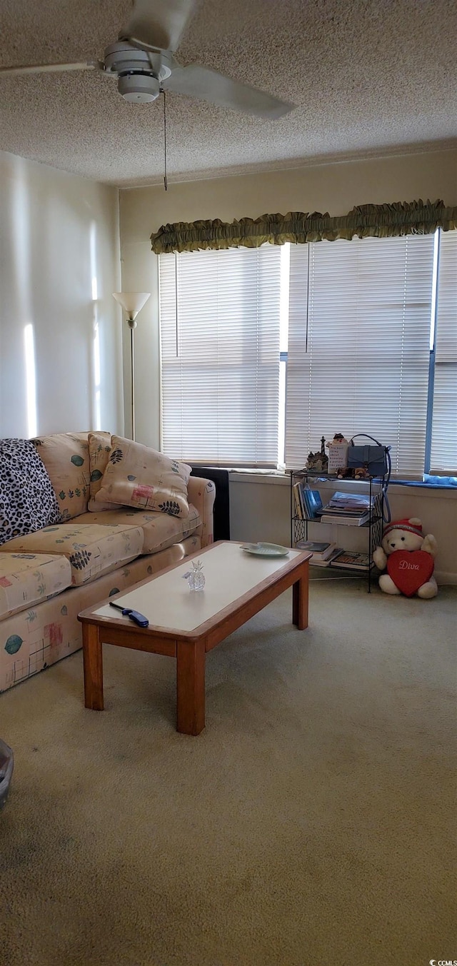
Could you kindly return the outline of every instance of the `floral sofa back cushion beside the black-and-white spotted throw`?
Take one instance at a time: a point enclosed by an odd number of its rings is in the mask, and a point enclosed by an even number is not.
[[[49,473],[62,520],[87,510],[90,469],[87,433],[56,433],[32,440]]]

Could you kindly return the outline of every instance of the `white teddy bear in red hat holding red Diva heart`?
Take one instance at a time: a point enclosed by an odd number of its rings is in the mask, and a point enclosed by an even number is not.
[[[436,597],[438,585],[432,576],[438,545],[432,533],[424,537],[418,517],[396,520],[385,526],[382,547],[377,547],[373,560],[379,570],[386,570],[379,585],[386,594],[406,597]]]

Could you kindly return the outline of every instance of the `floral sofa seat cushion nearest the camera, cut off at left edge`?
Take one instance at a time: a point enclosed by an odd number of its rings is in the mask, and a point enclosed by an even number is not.
[[[33,608],[70,585],[65,556],[0,553],[0,619]]]

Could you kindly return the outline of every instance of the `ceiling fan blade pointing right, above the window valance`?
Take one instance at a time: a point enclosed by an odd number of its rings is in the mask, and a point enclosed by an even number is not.
[[[198,64],[189,64],[188,67],[172,71],[171,77],[167,77],[162,86],[166,91],[208,100],[211,104],[230,107],[234,111],[244,111],[261,118],[280,118],[295,107],[295,104],[272,98],[264,91],[240,84],[237,80],[209,68],[199,67]]]

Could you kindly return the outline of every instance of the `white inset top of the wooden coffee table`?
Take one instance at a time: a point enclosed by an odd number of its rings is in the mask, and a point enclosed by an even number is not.
[[[190,569],[190,562],[185,559],[172,570],[116,597],[116,604],[140,611],[148,618],[150,625],[163,628],[164,631],[193,631],[300,555],[301,551],[290,550],[287,556],[282,557],[253,556],[243,551],[237,543],[215,544],[201,556],[194,557],[201,559],[203,564],[204,590],[189,590],[184,574]],[[124,617],[121,611],[115,611],[109,605],[100,607],[94,613],[135,626],[129,617]]]

